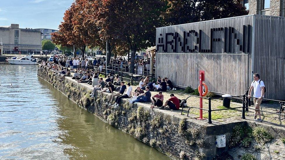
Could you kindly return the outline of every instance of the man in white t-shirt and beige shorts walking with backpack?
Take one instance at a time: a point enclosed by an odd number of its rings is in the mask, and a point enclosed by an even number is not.
[[[265,85],[264,85],[264,82],[262,80],[260,80],[260,76],[258,73],[254,73],[253,74],[253,81],[251,83],[251,87],[249,89],[249,92],[248,92],[248,98],[250,99],[251,98],[251,91],[253,89],[253,97],[256,97],[256,98],[253,98],[253,103],[254,103],[254,106],[255,106],[255,114],[254,114],[254,120],[255,121],[262,121],[261,119],[261,114],[260,114],[260,104],[261,104],[261,101],[264,97],[264,92],[265,92]],[[256,119],[257,117],[257,114],[259,116],[258,119]]]

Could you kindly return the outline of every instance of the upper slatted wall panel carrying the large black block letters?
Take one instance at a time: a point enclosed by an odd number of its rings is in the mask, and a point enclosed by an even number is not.
[[[215,21],[157,28],[158,53],[249,53],[250,24],[219,24]],[[206,24],[206,25],[205,25]],[[201,28],[200,28],[201,27]]]

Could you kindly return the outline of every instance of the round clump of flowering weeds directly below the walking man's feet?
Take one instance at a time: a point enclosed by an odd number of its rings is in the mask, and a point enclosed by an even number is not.
[[[273,136],[263,127],[256,127],[253,129],[253,137],[257,143],[264,145],[273,139]]]

